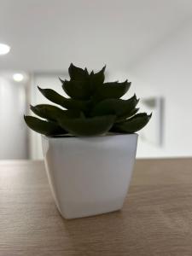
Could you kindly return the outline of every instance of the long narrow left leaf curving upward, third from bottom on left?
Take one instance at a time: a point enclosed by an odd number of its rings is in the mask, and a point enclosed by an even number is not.
[[[77,109],[79,111],[86,111],[89,109],[90,102],[89,101],[79,101],[73,99],[67,99],[64,96],[61,96],[59,93],[55,92],[52,89],[41,89],[38,87],[38,90],[50,101],[55,104],[60,105],[63,108],[67,109]]]

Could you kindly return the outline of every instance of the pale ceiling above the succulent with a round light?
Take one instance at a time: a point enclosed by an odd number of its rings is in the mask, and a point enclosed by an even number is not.
[[[126,69],[191,15],[191,0],[0,0],[0,68]]]

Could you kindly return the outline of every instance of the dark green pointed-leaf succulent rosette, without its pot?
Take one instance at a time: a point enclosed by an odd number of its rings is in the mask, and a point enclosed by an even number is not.
[[[108,132],[134,133],[148,124],[151,114],[137,113],[139,99],[134,95],[128,100],[120,99],[129,90],[131,82],[104,83],[105,68],[98,73],[87,68],[68,68],[70,80],[61,80],[62,89],[67,96],[61,96],[55,90],[38,90],[60,108],[39,104],[31,106],[33,116],[24,116],[26,125],[46,136],[76,137],[99,136]]]

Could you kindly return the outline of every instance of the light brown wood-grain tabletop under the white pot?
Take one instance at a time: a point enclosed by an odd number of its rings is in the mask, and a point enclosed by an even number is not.
[[[117,170],[118,172],[118,170]],[[0,255],[192,255],[192,159],[137,160],[121,212],[65,220],[44,163],[0,163]]]

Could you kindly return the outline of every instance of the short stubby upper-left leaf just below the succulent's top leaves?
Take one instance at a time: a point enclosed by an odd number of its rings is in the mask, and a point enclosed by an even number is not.
[[[68,96],[75,100],[89,100],[90,98],[90,84],[87,81],[65,80],[62,88]]]

